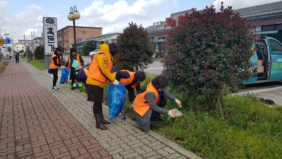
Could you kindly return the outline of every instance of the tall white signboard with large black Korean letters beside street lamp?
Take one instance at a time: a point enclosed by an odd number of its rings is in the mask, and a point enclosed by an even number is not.
[[[51,56],[58,47],[57,18],[43,17],[44,53]]]

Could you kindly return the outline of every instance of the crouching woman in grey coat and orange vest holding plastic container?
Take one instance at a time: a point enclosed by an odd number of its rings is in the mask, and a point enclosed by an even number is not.
[[[138,92],[133,102],[132,112],[137,124],[142,130],[149,132],[150,122],[156,120],[160,114],[176,117],[172,114],[173,110],[164,109],[164,106],[167,104],[167,100],[164,97],[175,101],[178,106],[181,106],[181,102],[165,90],[167,85],[167,78],[163,75],[158,75]],[[163,98],[160,92],[164,93]]]

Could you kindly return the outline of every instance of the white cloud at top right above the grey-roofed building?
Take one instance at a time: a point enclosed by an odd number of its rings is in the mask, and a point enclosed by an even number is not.
[[[248,6],[255,6],[255,5],[260,5],[260,4],[266,4],[266,3],[271,3],[275,2],[277,0],[256,0],[256,1],[249,1],[249,0],[216,0],[214,1],[213,5],[216,7],[216,10],[219,11],[220,6],[221,6],[221,1],[223,1],[223,6],[226,8],[227,6],[232,6],[232,9],[241,9],[245,8]]]

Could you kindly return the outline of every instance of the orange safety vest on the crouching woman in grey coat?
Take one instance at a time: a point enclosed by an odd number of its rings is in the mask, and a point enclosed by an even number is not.
[[[137,112],[141,117],[150,109],[150,105],[145,99],[145,95],[148,92],[153,92],[156,95],[156,104],[159,102],[159,94],[157,89],[153,86],[152,82],[147,85],[147,89],[145,92],[140,93],[136,96],[133,102],[133,109]]]

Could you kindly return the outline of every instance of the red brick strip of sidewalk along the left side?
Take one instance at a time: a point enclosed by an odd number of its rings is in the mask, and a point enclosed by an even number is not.
[[[22,64],[0,80],[0,158],[112,158]]]

